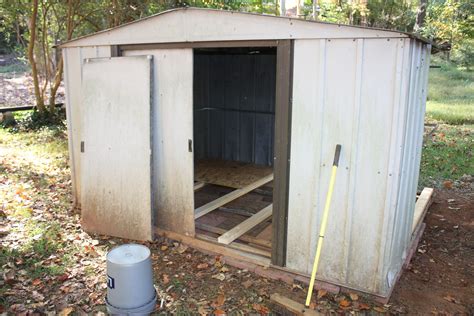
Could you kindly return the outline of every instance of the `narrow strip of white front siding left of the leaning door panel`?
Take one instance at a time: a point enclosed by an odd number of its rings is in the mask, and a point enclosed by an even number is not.
[[[110,57],[110,46],[63,48],[66,116],[68,124],[69,158],[73,196],[76,205],[81,201],[81,86],[82,65],[86,58]]]

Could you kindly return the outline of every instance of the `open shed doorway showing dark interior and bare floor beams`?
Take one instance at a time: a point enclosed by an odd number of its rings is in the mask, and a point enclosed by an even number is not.
[[[271,257],[276,47],[194,49],[196,237]]]

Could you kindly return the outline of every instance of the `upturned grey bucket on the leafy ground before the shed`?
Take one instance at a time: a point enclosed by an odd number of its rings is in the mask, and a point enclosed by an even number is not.
[[[155,310],[156,290],[150,249],[125,244],[107,254],[107,311],[114,315],[147,315]]]

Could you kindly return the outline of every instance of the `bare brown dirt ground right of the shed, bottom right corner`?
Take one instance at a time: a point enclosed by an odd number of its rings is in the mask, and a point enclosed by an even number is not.
[[[425,223],[390,303],[409,314],[474,315],[474,200],[436,191]]]

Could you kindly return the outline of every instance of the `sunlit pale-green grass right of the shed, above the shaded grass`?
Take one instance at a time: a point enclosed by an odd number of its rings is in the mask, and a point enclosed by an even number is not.
[[[446,124],[474,124],[474,72],[456,68],[438,58],[430,69],[426,116]]]

